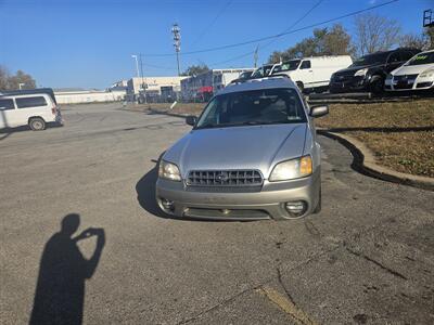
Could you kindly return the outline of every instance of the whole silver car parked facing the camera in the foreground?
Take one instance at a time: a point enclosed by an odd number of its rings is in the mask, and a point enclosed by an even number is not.
[[[158,164],[156,202],[186,218],[295,219],[321,209],[320,145],[312,117],[291,79],[246,80],[221,90],[193,130]]]

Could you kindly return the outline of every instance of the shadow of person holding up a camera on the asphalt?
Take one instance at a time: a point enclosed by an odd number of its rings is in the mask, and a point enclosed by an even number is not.
[[[103,229],[89,227],[73,237],[80,224],[80,216],[67,214],[61,230],[43,248],[34,308],[29,324],[81,324],[85,283],[91,278],[105,244]],[[77,243],[97,236],[97,246],[86,259]]]

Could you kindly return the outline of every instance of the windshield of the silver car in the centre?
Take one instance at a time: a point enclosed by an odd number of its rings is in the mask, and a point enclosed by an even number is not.
[[[195,129],[305,121],[304,107],[294,89],[266,89],[215,96]]]

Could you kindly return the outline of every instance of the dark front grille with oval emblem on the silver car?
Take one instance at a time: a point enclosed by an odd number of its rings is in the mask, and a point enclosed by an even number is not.
[[[192,170],[187,186],[239,187],[260,186],[263,176],[258,170]]]

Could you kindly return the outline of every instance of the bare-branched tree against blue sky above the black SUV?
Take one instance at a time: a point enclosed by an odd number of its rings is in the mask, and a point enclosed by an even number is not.
[[[390,50],[399,42],[400,25],[372,13],[357,15],[356,49],[359,55]]]

